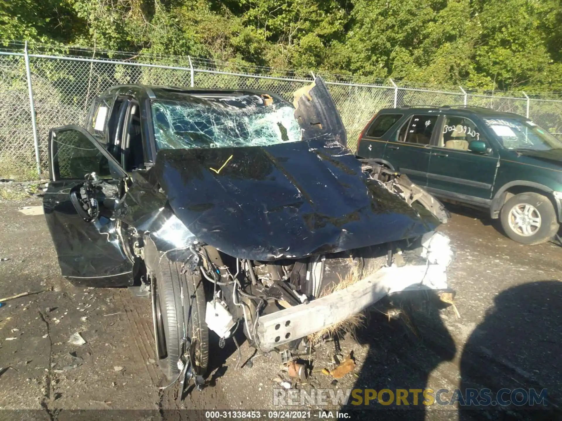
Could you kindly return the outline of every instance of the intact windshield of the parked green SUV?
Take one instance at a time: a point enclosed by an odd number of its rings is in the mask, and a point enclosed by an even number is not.
[[[484,118],[484,122],[506,149],[562,149],[562,141],[523,118]]]

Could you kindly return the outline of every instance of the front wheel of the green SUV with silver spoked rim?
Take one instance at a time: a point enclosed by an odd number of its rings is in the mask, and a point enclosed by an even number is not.
[[[559,228],[554,206],[538,193],[521,193],[507,200],[500,219],[510,239],[528,245],[549,241]]]

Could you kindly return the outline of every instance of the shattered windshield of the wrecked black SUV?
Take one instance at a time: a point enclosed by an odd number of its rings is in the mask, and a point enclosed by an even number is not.
[[[155,100],[156,149],[268,146],[301,140],[294,108],[269,95]]]

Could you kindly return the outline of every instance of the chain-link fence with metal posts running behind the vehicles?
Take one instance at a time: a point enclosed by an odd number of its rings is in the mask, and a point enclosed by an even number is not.
[[[30,178],[37,174],[37,159],[47,166],[47,136],[51,127],[80,124],[90,101],[119,84],[195,86],[197,88],[260,89],[292,100],[294,90],[314,75],[271,68],[248,68],[232,63],[185,57],[166,60],[146,57],[136,61],[82,56],[52,56],[27,51],[0,52],[0,178]],[[107,56],[107,53],[105,54]],[[111,57],[111,55],[110,55]],[[26,75],[26,58],[29,77]],[[165,62],[166,64],[160,64]],[[157,64],[158,63],[158,64]],[[170,65],[169,63],[173,63]],[[533,118],[562,136],[562,100],[528,98],[514,93],[466,93],[462,88],[433,90],[413,85],[361,84],[322,75],[347,129],[348,143],[356,141],[366,123],[381,108],[468,104],[514,112]],[[29,85],[32,96],[29,94]],[[31,102],[31,99],[33,102]],[[35,107],[35,127],[31,118]],[[38,139],[38,157],[34,134]]]

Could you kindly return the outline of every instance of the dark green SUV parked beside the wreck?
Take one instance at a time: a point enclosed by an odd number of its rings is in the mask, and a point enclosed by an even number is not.
[[[481,107],[382,109],[357,155],[405,173],[448,202],[488,209],[523,244],[562,222],[562,141],[528,118]]]

